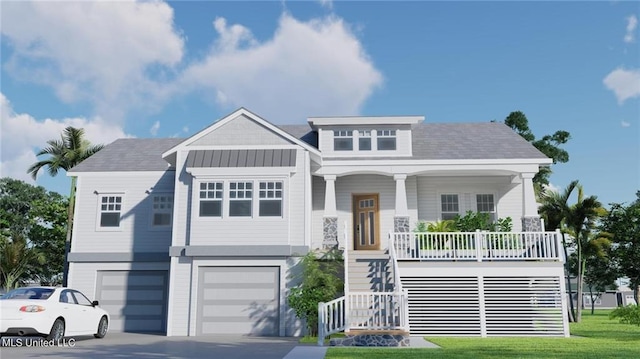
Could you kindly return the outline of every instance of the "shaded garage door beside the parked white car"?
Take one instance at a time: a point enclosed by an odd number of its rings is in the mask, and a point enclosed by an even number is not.
[[[167,271],[98,271],[96,298],[111,316],[109,330],[166,330]]]

